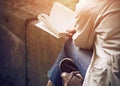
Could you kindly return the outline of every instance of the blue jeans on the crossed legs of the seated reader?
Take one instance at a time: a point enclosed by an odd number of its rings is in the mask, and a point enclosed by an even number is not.
[[[67,40],[61,52],[59,53],[56,62],[48,71],[48,78],[53,82],[55,86],[62,86],[59,63],[64,58],[71,58],[81,72],[81,75],[85,77],[87,68],[91,61],[92,53],[92,50],[80,49],[74,45],[72,40]]]

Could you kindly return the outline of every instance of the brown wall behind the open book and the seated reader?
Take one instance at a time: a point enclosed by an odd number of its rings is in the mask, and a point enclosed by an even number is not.
[[[46,86],[47,71],[65,40],[35,24],[38,14],[49,13],[53,1],[0,0],[0,86]]]

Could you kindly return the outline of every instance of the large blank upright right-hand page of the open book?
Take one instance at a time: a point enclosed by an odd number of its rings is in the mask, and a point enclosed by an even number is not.
[[[55,3],[50,12],[51,24],[60,32],[73,29],[75,12],[60,3]]]

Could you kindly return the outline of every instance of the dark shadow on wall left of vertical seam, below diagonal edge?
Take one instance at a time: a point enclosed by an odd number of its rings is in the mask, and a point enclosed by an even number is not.
[[[25,86],[25,45],[0,25],[0,86]]]

